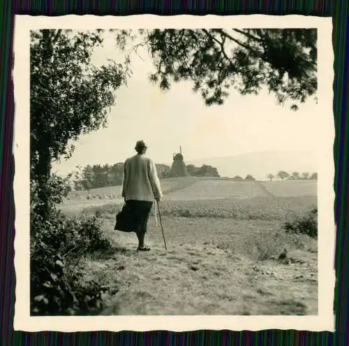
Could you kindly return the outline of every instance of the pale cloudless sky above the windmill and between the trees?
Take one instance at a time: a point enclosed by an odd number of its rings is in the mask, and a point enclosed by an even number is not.
[[[133,56],[127,87],[116,92],[107,127],[81,136],[74,142],[73,156],[54,164],[54,171],[65,175],[76,166],[124,161],[135,154],[135,142],[141,139],[149,147],[149,157],[163,164],[171,164],[179,145],[186,161],[264,150],[315,150],[314,101],[294,112],[288,105],[278,106],[267,92],[242,96],[231,89],[223,105],[207,107],[200,94],[193,94],[191,82],[179,82],[166,92],[152,85],[148,53],[140,49],[138,54]],[[92,62],[122,62],[124,55],[115,48],[114,36],[107,34]]]

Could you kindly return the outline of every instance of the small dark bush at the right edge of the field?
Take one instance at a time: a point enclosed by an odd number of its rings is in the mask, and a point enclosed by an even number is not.
[[[296,217],[291,222],[285,222],[286,233],[305,234],[318,238],[318,208],[313,208],[302,217]]]

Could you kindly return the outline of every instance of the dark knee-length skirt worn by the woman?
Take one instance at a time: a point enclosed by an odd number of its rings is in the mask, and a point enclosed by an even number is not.
[[[153,202],[151,201],[126,201],[123,208],[124,222],[127,225],[125,231],[134,231],[135,233],[146,233],[149,214]],[[115,226],[116,227],[116,226]]]

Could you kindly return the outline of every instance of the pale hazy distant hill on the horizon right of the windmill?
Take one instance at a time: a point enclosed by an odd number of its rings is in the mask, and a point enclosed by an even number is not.
[[[269,173],[276,175],[279,171],[288,173],[318,171],[316,153],[311,150],[252,152],[229,157],[195,159],[186,164],[214,166],[221,177],[232,178],[236,175],[246,177],[247,174],[251,174],[260,180],[266,179]]]

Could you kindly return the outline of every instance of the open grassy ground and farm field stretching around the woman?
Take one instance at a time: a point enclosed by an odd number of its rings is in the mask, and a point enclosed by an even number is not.
[[[147,245],[113,231],[121,187],[72,192],[61,209],[101,215],[113,251],[86,258],[87,280],[117,286],[103,315],[317,315],[317,241],[283,223],[316,206],[311,181],[162,180],[161,217]],[[283,249],[288,261],[279,261]]]

